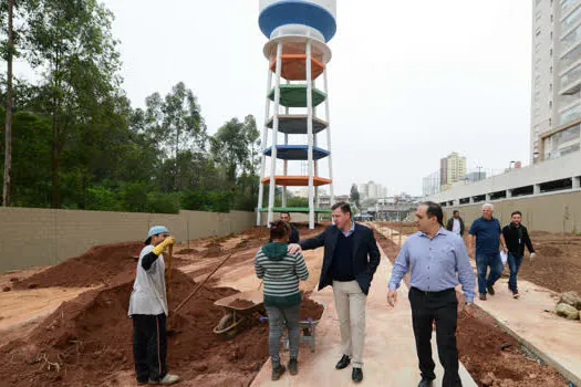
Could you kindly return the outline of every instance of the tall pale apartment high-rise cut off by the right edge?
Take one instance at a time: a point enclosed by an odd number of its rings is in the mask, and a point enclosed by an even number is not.
[[[581,0],[532,1],[530,159],[581,147]]]

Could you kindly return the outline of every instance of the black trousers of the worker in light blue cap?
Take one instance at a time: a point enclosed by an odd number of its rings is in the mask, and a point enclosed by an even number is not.
[[[137,383],[159,381],[167,374],[166,315],[134,314],[132,318]]]

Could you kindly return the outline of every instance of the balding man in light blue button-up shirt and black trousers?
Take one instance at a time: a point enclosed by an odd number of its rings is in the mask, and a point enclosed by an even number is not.
[[[442,386],[461,386],[456,346],[458,300],[455,287],[458,282],[461,284],[466,304],[471,304],[476,295],[466,244],[458,234],[443,227],[443,219],[442,207],[435,202],[427,201],[417,207],[416,226],[419,232],[407,238],[402,247],[393,266],[387,293],[387,303],[395,306],[396,290],[412,266],[408,296],[422,373],[419,387],[432,387],[436,378],[430,344],[434,321],[439,362],[444,367]]]

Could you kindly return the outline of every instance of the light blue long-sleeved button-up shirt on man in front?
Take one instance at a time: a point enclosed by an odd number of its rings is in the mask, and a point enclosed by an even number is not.
[[[467,302],[473,302],[475,278],[464,240],[444,228],[429,239],[424,232],[407,238],[395,260],[390,289],[400,287],[412,266],[409,285],[425,292],[439,292],[458,283]]]

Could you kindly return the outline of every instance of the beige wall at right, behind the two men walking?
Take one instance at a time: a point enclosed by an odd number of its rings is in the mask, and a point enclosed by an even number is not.
[[[494,206],[495,217],[502,226],[510,222],[512,211],[519,210],[522,223],[531,231],[581,232],[581,191],[506,199],[495,201]],[[481,216],[483,203],[447,207],[445,218],[449,219],[455,209],[469,227]]]

